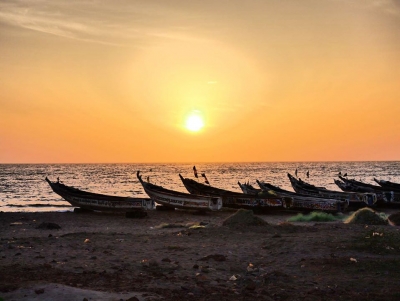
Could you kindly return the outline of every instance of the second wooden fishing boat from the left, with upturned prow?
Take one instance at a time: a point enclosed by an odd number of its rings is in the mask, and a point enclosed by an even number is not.
[[[222,200],[219,197],[210,197],[206,195],[193,195],[166,189],[149,182],[145,182],[137,172],[137,178],[143,186],[144,191],[156,203],[178,209],[194,209],[200,211],[216,211],[222,208]]]

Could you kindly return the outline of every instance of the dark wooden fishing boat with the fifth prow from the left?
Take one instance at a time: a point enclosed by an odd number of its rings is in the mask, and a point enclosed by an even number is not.
[[[349,206],[346,200],[337,200],[324,197],[303,195],[289,190],[285,190],[269,183],[257,180],[258,186],[264,193],[273,193],[281,196],[293,198],[293,209],[305,211],[324,211],[324,212],[345,212]]]

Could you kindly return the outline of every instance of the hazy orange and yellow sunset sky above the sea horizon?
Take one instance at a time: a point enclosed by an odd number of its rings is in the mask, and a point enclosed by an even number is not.
[[[0,2],[0,163],[354,160],[400,160],[399,0]]]

